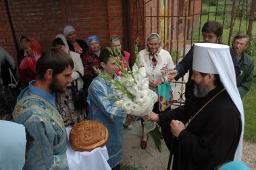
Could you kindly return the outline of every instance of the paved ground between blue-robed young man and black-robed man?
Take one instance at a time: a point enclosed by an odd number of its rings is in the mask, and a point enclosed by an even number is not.
[[[169,152],[162,142],[161,153],[155,148],[155,144],[151,136],[147,142],[147,148],[145,150],[140,148],[141,138],[141,124],[140,121],[133,123],[133,129],[124,130],[124,159],[122,163],[128,165],[135,165],[139,169],[167,169]]]

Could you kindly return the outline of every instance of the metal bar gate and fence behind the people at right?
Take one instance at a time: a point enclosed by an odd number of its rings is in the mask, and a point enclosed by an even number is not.
[[[163,49],[177,64],[195,42],[203,40],[201,28],[208,20],[224,26],[222,42],[230,45],[238,32],[255,36],[256,0],[145,0],[145,37],[151,32],[161,36]],[[185,78],[172,82],[176,86],[174,105],[184,104]]]

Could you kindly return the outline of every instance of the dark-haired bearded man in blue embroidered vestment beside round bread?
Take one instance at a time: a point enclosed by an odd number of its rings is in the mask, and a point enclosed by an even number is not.
[[[55,92],[72,82],[72,58],[61,49],[50,49],[36,63],[36,80],[17,99],[13,117],[23,124],[27,142],[24,169],[68,169],[68,137]]]

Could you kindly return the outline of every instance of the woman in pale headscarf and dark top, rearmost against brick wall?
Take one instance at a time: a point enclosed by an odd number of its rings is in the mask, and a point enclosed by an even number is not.
[[[73,26],[66,26],[63,30],[63,34],[68,40],[68,47],[70,51],[80,54],[80,57],[82,58],[86,49],[88,49],[86,42],[84,42],[84,40],[76,39],[76,30]]]

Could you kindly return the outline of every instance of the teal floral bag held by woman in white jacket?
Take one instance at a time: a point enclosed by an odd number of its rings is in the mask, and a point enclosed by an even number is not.
[[[165,111],[173,102],[172,86],[170,83],[163,83],[158,86],[159,111]]]

